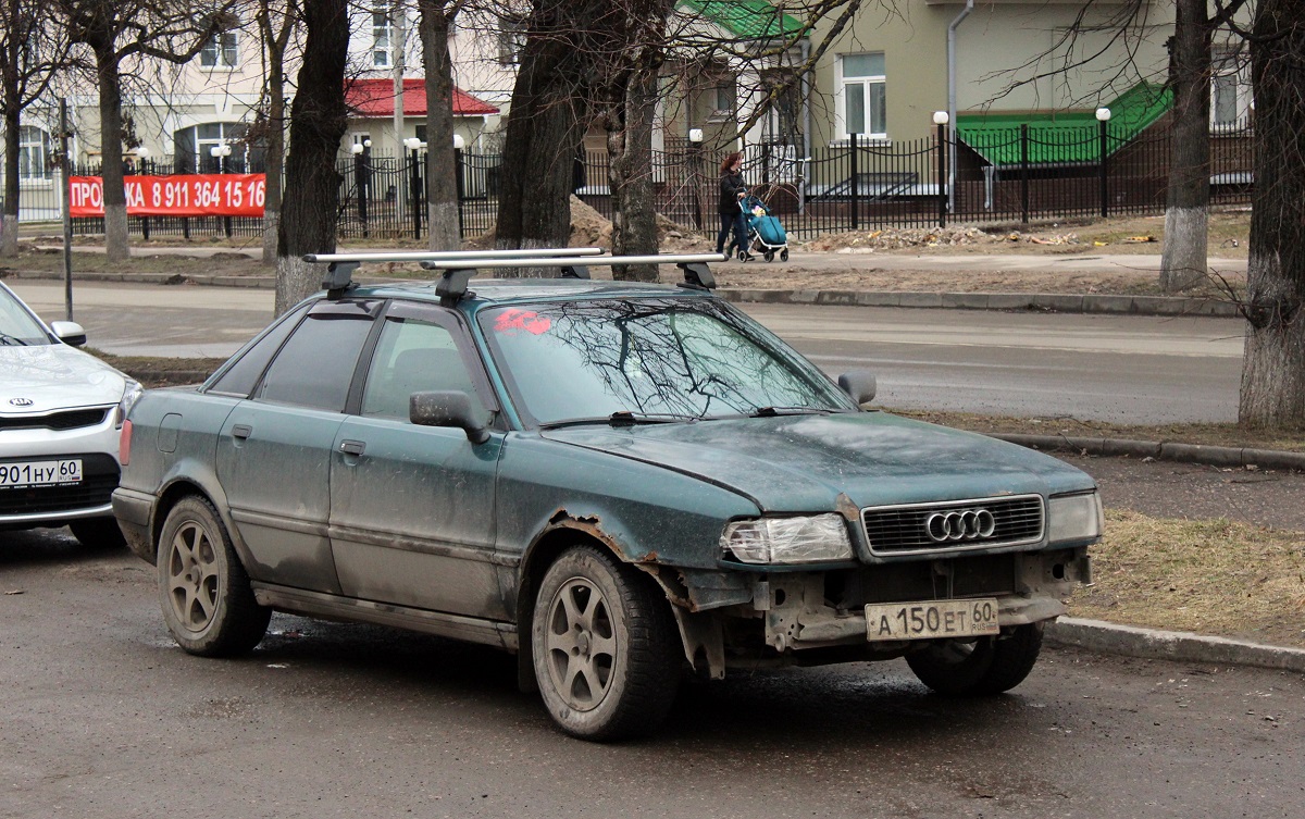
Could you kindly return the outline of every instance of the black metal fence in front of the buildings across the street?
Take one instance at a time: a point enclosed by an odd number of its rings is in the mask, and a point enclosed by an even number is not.
[[[720,156],[679,142],[652,154],[656,211],[690,230],[714,233],[719,219]],[[942,150],[946,149],[946,150]],[[951,156],[953,150],[955,156]],[[230,160],[228,160],[230,162]],[[261,163],[193,168],[200,172],[260,172]],[[463,237],[492,231],[499,211],[500,154],[457,151],[459,220]],[[171,173],[166,162],[146,160],[133,173]],[[183,171],[193,171],[183,168]],[[425,213],[425,155],[367,150],[338,160],[339,237],[422,239]],[[74,173],[97,175],[98,167]],[[790,235],[885,227],[1017,224],[1044,219],[1143,215],[1164,211],[1169,176],[1168,128],[1156,125],[1130,140],[1096,125],[1081,129],[1022,127],[970,130],[955,146],[938,136],[874,143],[852,138],[803,155],[792,145],[753,145],[744,177],[784,223]],[[1211,202],[1250,201],[1251,132],[1246,127],[1211,133]],[[608,156],[577,158],[576,194],[612,216]],[[20,220],[54,220],[61,207],[57,175],[25,180]],[[103,219],[74,219],[74,232],[103,231]],[[252,218],[130,218],[145,237],[248,237],[262,231]]]

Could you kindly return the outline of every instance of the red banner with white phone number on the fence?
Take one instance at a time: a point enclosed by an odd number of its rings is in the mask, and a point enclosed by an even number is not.
[[[73,176],[73,216],[104,215],[104,184],[98,176]],[[129,216],[262,216],[264,173],[128,176]]]

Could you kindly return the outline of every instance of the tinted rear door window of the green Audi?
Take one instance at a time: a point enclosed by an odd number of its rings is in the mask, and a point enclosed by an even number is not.
[[[361,312],[311,312],[277,353],[254,398],[343,412],[372,321]]]

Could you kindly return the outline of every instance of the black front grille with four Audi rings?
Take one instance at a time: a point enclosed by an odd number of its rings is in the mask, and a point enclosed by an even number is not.
[[[958,539],[936,540],[929,536],[929,522],[936,515],[983,511],[992,514],[990,535],[970,531]],[[1009,546],[1037,543],[1043,539],[1043,498],[1027,494],[946,503],[880,506],[861,510],[861,520],[865,524],[870,552],[876,554]],[[937,533],[942,528],[942,522],[934,520],[933,528]]]

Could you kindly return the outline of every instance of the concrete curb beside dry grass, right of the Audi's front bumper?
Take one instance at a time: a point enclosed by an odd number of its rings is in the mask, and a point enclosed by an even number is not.
[[[1045,638],[1053,646],[1067,646],[1126,657],[1178,663],[1228,663],[1305,674],[1305,649],[1262,646],[1188,631],[1160,631],[1117,626],[1099,619],[1061,617],[1056,622],[1047,623]]]

